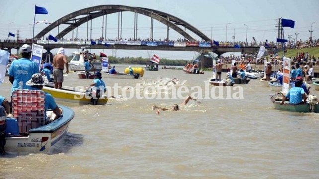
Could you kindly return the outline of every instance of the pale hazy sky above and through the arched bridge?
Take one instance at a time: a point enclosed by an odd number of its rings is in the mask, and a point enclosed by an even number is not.
[[[37,14],[35,21],[47,20],[55,22],[59,18],[83,8],[97,5],[125,5],[132,7],[144,7],[159,10],[176,16],[195,26],[209,38],[215,41],[276,41],[278,19],[291,19],[295,21],[295,27],[284,27],[285,39],[307,40],[310,37],[311,28],[313,39],[319,39],[319,0],[0,0],[0,39],[8,37],[9,31],[16,34],[19,30],[20,39],[32,37],[35,5],[45,7],[48,14]],[[92,21],[92,35],[88,37],[99,38],[102,36],[102,18]],[[48,24],[35,24],[35,35],[47,27]],[[90,26],[90,23],[89,23]],[[61,25],[61,32],[66,25]],[[104,25],[105,28],[105,25]],[[78,28],[78,38],[86,39],[87,24]],[[187,30],[186,30],[187,31]],[[105,30],[104,30],[105,32]],[[49,34],[56,36],[55,28]],[[47,34],[46,36],[49,36]],[[75,34],[75,32],[74,32]],[[195,39],[200,37],[190,33]],[[105,35],[105,34],[104,34]],[[138,15],[138,37],[150,38],[150,17]],[[75,37],[75,35],[74,35]],[[107,38],[118,37],[118,14],[107,16]],[[122,38],[134,37],[134,13],[122,14]],[[167,37],[167,26],[154,20],[154,39]],[[72,38],[72,32],[64,36]],[[184,38],[173,29],[169,31],[170,40]],[[66,49],[67,55],[71,55],[75,49]],[[56,53],[57,49],[53,49]],[[117,57],[144,57],[150,58],[157,54],[160,58],[167,59],[194,59],[197,52],[178,51],[143,51],[143,50],[92,50],[92,52],[104,52]],[[14,53],[14,51],[12,52]]]

